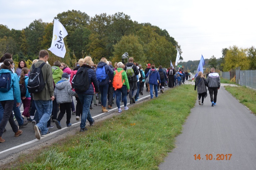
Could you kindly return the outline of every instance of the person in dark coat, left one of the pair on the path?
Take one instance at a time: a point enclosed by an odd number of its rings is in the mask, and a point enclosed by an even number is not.
[[[206,88],[206,80],[203,77],[202,71],[198,72],[198,75],[195,79],[195,90],[197,88],[198,93],[198,104],[203,105],[204,98],[207,97],[207,88]],[[201,97],[202,97],[202,103],[201,103]]]

